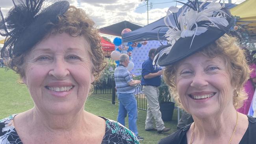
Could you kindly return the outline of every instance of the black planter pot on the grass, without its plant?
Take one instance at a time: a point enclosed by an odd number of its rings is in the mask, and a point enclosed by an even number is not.
[[[160,103],[160,111],[163,121],[171,121],[173,118],[174,102]]]

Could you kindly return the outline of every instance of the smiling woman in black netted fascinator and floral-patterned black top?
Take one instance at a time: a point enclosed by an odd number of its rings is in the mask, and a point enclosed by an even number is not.
[[[118,122],[84,110],[106,66],[94,22],[67,1],[16,1],[0,19],[1,56],[9,55],[35,105],[0,120],[0,143],[139,144]]]

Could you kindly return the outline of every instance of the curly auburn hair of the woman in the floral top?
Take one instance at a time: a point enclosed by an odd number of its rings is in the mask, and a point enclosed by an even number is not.
[[[51,28],[48,35],[51,33],[65,32],[69,33],[72,37],[85,37],[91,46],[91,50],[88,51],[93,64],[92,72],[95,77],[95,81],[98,80],[102,70],[106,67],[107,62],[104,60],[100,35],[98,30],[95,28],[95,23],[88,17],[85,11],[74,6],[70,6],[64,15],[58,16],[58,22],[56,24],[48,23],[48,25]],[[47,37],[47,35],[45,37]],[[8,65],[9,68],[17,72],[21,78],[25,76],[24,58],[30,51],[31,49],[17,57],[13,57]]]

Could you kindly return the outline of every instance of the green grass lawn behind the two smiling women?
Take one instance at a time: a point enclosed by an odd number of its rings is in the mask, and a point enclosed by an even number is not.
[[[19,84],[18,80],[19,76],[15,72],[0,68],[0,119],[11,114],[21,113],[33,107],[33,101],[26,85]],[[110,101],[90,96],[85,103],[85,110],[98,116],[117,120],[118,103],[112,105]],[[141,144],[157,144],[158,140],[167,137],[176,130],[176,110],[174,110],[173,121],[165,122],[165,127],[170,127],[171,131],[163,134],[158,134],[156,131],[145,131],[146,115],[146,111],[138,111],[137,127],[139,135],[144,137]],[[126,119],[126,126],[128,126],[128,119]]]

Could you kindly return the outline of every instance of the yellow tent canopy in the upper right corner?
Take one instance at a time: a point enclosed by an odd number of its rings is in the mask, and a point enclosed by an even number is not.
[[[240,17],[237,24],[248,31],[249,42],[256,42],[256,0],[246,0],[230,11],[232,15]]]

